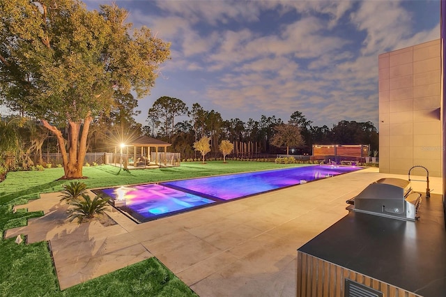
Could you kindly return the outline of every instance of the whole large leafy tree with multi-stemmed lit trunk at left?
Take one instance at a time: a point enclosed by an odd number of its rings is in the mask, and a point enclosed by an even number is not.
[[[0,103],[56,135],[64,178],[82,177],[89,125],[114,91],[146,96],[169,57],[168,43],[145,27],[132,30],[127,16],[78,0],[0,1]]]

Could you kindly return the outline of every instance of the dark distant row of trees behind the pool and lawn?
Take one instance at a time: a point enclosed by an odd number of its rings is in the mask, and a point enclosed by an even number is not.
[[[180,117],[187,119],[176,121]],[[205,110],[198,102],[189,109],[178,98],[162,96],[148,110],[147,122],[149,125],[143,127],[146,135],[170,142],[172,150],[185,156],[193,155],[193,143],[205,136],[210,137],[211,152],[215,153],[222,139],[259,144],[259,151],[266,154],[287,153],[286,144],[302,154],[311,153],[312,144],[369,144],[371,151],[378,150],[378,131],[371,121],[339,121],[331,128],[320,127],[299,111],[286,122],[265,115],[246,122],[225,120],[219,112]]]

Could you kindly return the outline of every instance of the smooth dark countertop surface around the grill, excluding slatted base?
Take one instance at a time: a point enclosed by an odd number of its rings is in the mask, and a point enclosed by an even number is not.
[[[298,250],[425,297],[446,296],[443,200],[431,195],[416,222],[351,211]]]

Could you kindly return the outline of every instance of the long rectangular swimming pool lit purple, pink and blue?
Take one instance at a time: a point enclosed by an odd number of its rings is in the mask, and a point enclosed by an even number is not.
[[[110,197],[114,207],[135,222],[148,222],[360,169],[362,167],[309,165],[92,191]]]

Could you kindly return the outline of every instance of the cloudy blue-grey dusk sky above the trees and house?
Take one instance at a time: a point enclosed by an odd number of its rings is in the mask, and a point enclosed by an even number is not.
[[[85,1],[87,8],[111,1]],[[378,128],[378,54],[440,38],[437,1],[116,1],[134,26],[171,43],[137,121],[161,96],[224,120]]]

